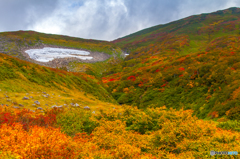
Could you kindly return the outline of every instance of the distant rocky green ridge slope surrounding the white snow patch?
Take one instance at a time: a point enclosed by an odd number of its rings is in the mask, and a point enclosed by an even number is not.
[[[25,50],[39,49],[43,47],[71,48],[90,52],[92,60],[72,59],[54,59],[50,62],[38,62],[29,58]],[[93,63],[106,61],[109,58],[123,57],[123,53],[116,45],[99,40],[81,39],[63,35],[53,35],[38,33],[35,31],[16,31],[0,33],[0,52],[17,57],[22,60],[34,62],[40,65],[53,68],[64,68],[65,70],[74,71],[71,62]]]

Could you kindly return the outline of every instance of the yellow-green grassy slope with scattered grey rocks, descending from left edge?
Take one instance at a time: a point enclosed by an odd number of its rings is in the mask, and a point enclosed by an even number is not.
[[[0,103],[9,106],[40,107],[78,103],[81,107],[104,107],[115,103],[111,95],[91,75],[47,68],[0,54]],[[49,97],[44,97],[46,92]],[[8,96],[8,97],[7,97]],[[32,96],[33,99],[22,100]],[[47,105],[46,105],[47,104]]]

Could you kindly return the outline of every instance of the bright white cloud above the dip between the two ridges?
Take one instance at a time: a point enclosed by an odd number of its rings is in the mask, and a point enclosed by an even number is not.
[[[114,39],[117,32],[121,35],[119,22],[126,18],[127,8],[121,0],[89,0],[78,8],[61,6],[29,29],[107,40]]]

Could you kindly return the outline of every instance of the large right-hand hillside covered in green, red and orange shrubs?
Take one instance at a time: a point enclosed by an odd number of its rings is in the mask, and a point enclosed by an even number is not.
[[[103,82],[122,104],[240,119],[239,15],[239,8],[230,8],[115,40],[130,55],[110,68]]]

